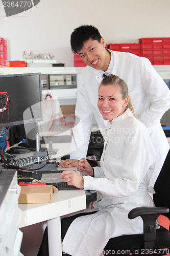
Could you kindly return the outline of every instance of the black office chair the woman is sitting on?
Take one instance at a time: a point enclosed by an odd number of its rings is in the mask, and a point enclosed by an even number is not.
[[[154,185],[153,200],[156,207],[136,207],[128,218],[140,216],[143,220],[143,234],[132,234],[112,238],[104,248],[106,255],[166,255],[170,253],[170,231],[160,226],[155,229],[159,215],[170,220],[170,150]],[[162,249],[162,250],[161,250]],[[115,254],[114,254],[115,252]],[[117,254],[116,254],[117,252]],[[129,253],[131,252],[131,254]],[[122,254],[120,254],[122,253]]]

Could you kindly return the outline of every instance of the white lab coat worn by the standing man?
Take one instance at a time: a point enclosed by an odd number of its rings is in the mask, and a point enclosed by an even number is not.
[[[170,90],[152,67],[149,59],[131,53],[109,51],[114,58],[112,74],[124,79],[128,84],[135,115],[147,126],[156,151],[155,171],[150,177],[150,185],[153,186],[169,150],[160,119],[170,108]],[[81,120],[82,126],[79,124],[79,127],[81,126],[82,130],[75,129],[70,153],[72,159],[80,160],[86,157],[94,118],[103,135],[103,127],[107,121],[103,119],[97,106],[101,80],[99,70],[87,66],[82,71],[75,112],[76,123]]]

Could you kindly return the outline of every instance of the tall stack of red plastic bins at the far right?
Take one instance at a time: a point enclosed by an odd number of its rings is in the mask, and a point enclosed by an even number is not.
[[[152,65],[170,64],[170,38],[140,38],[142,56],[148,58]]]

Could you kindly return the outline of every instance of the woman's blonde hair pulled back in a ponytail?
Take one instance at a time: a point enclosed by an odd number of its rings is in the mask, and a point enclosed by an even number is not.
[[[100,84],[100,87],[101,86],[108,86],[110,84],[112,86],[115,86],[116,84],[118,84],[118,86],[120,87],[120,93],[122,94],[122,98],[123,99],[125,99],[126,97],[129,98],[126,109],[130,109],[132,111],[133,115],[135,116],[132,101],[131,101],[131,98],[129,96],[129,90],[128,90],[127,83],[123,79],[119,78],[118,76],[108,75],[108,76],[105,76],[103,78],[103,80]]]

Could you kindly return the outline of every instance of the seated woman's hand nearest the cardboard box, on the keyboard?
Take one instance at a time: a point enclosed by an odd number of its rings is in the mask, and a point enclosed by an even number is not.
[[[60,175],[60,179],[65,179],[68,185],[84,188],[84,179],[82,176],[77,174],[75,170],[64,170]]]

